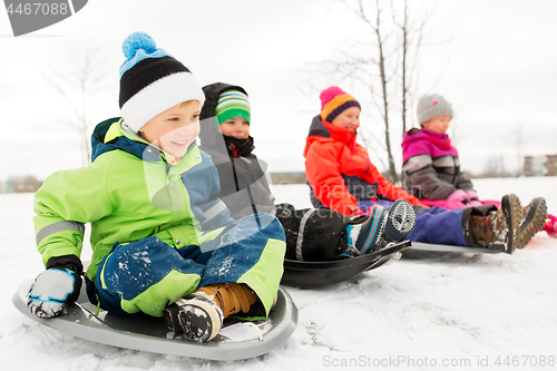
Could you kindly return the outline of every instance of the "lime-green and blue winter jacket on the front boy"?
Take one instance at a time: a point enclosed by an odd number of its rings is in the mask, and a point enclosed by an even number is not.
[[[91,165],[52,174],[35,196],[45,264],[55,256],[79,257],[86,223],[92,247],[87,276],[94,280],[117,242],[154,235],[176,248],[199,246],[233,222],[218,198],[216,168],[195,144],[172,166],[118,118],[99,124],[91,141]]]

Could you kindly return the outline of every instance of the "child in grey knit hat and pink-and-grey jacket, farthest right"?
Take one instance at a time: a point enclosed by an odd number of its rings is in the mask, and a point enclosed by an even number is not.
[[[430,206],[461,208],[494,204],[497,201],[480,201],[473,185],[460,170],[457,148],[451,145],[447,134],[453,111],[451,105],[440,95],[426,95],[418,102],[418,123],[402,140],[402,169],[405,187],[412,195]],[[557,237],[557,218],[548,215],[546,225],[546,204],[543,197],[535,198],[524,208],[524,218],[532,219],[534,235],[544,228]]]

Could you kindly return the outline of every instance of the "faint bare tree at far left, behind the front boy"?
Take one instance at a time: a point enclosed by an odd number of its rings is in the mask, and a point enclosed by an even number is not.
[[[101,91],[107,88],[106,58],[95,42],[70,42],[63,53],[68,62],[50,67],[43,76],[48,86],[58,92],[71,109],[68,124],[79,137],[81,163],[87,166],[91,162],[90,128],[91,114],[97,106]]]

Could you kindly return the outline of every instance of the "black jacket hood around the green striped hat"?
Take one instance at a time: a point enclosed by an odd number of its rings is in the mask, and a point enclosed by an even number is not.
[[[205,104],[202,108],[202,114],[199,115],[199,139],[202,144],[199,148],[207,150],[207,147],[221,147],[223,143],[223,135],[216,130],[215,120],[215,109],[218,101],[218,97],[226,90],[240,90],[247,95],[244,88],[229,85],[225,82],[214,82],[203,87],[203,92],[205,94]]]

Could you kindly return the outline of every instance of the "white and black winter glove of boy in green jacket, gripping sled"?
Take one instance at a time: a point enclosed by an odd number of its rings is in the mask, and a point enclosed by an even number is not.
[[[50,258],[47,270],[35,279],[29,289],[27,306],[31,313],[51,319],[60,314],[66,305],[74,304],[81,290],[81,272],[82,265],[77,256]]]

